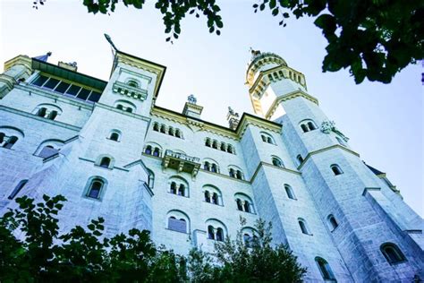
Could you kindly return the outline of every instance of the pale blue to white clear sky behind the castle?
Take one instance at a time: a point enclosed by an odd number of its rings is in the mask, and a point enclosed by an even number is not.
[[[228,106],[252,113],[244,85],[249,48],[274,52],[305,74],[310,94],[360,158],[386,172],[404,201],[424,215],[420,64],[390,84],[356,85],[347,71],[322,73],[326,39],[310,19],[293,19],[283,28],[269,12],[253,13],[247,0],[217,0],[224,18],[220,37],[208,33],[204,19],[188,17],[171,45],[154,1],[148,2],[142,11],[120,4],[108,16],[89,14],[76,0],[48,0],[38,10],[31,0],[0,0],[0,62],[52,51],[50,63],[76,61],[79,72],[107,80],[112,55],[106,32],[120,50],[167,66],[158,106],[182,111],[193,93],[205,107],[204,120],[226,125]]]

